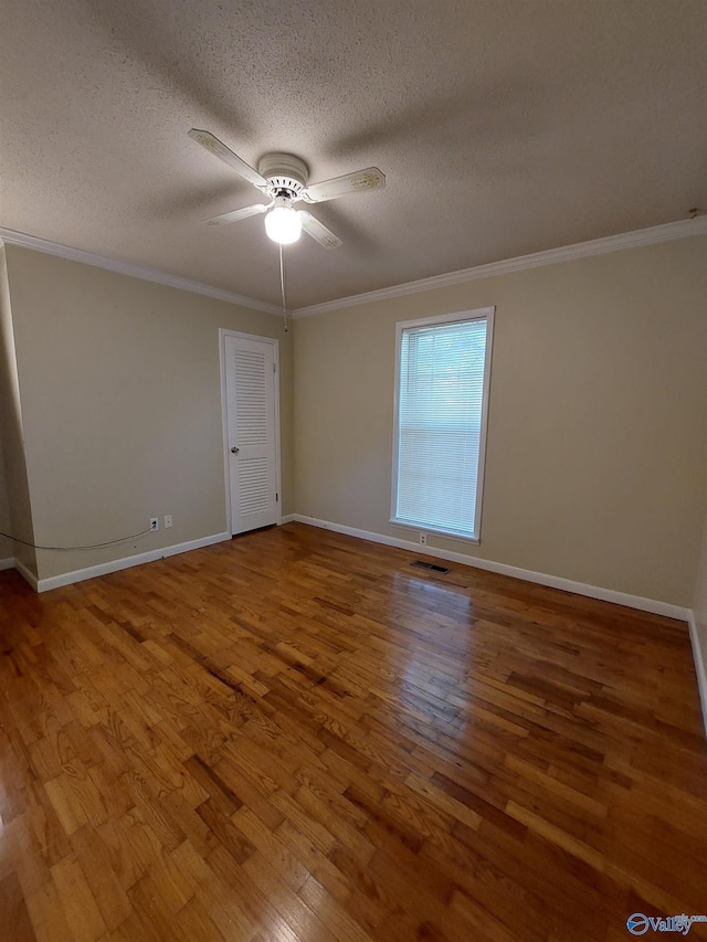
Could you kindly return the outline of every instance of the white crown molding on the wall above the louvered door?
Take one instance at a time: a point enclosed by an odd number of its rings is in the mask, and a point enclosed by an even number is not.
[[[192,292],[228,304],[238,304],[253,310],[282,316],[282,308],[274,304],[236,295],[234,292],[226,292],[223,288],[214,288],[212,285],[204,285],[201,282],[192,282],[190,278],[181,278],[179,275],[170,275],[168,272],[160,272],[158,268],[146,268],[130,262],[118,262],[105,255],[85,252],[83,248],[72,248],[71,245],[61,245],[59,242],[50,242],[48,239],[40,239],[36,235],[28,235],[24,232],[14,232],[11,229],[0,226],[0,243],[2,242],[9,245],[20,245],[22,248],[31,248],[34,252],[43,252],[45,255],[56,255],[59,258],[67,258],[70,262],[93,265],[95,268],[117,272],[119,275],[128,275],[144,282],[155,282],[158,285],[167,285],[167,287],[178,288],[181,292]]]

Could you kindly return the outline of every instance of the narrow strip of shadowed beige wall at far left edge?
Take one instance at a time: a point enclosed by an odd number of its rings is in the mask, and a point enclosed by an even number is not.
[[[0,523],[3,525],[0,529],[31,543],[32,510],[23,434],[8,264],[6,247],[0,244]],[[3,540],[0,559],[12,558],[31,575],[36,575],[36,557],[31,547]]]

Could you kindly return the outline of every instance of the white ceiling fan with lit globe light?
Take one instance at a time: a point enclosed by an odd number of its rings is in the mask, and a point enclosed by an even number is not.
[[[386,177],[377,167],[367,167],[366,170],[358,170],[356,173],[347,173],[344,177],[325,180],[323,183],[308,186],[309,169],[304,160],[293,154],[266,154],[260,160],[257,170],[254,170],[208,130],[192,128],[189,137],[228,163],[236,173],[258,189],[268,201],[222,213],[208,219],[207,223],[228,225],[251,215],[267,213],[265,232],[273,242],[281,245],[296,242],[304,229],[307,235],[325,248],[338,248],[341,240],[306,210],[295,210],[294,203],[300,200],[305,203],[323,203],[326,200],[348,197],[349,193],[360,193],[386,186]]]

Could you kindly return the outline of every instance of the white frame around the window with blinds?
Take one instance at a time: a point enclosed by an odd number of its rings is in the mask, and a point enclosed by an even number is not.
[[[461,540],[464,543],[478,546],[481,543],[482,507],[484,496],[484,474],[486,468],[486,440],[488,437],[488,400],[490,393],[490,367],[494,346],[494,316],[495,306],[479,307],[473,310],[458,310],[454,314],[440,314],[433,317],[419,317],[414,320],[399,320],[395,322],[395,374],[393,395],[393,452],[391,473],[391,501],[390,520],[394,527],[405,527],[424,533],[439,533],[449,540]],[[486,320],[486,349],[484,354],[484,385],[482,393],[482,421],[479,430],[478,446],[478,474],[476,478],[476,505],[474,515],[474,533],[465,536],[460,532],[451,532],[425,523],[413,523],[410,520],[400,520],[395,517],[398,506],[398,479],[399,479],[399,447],[400,447],[400,361],[402,350],[403,331],[411,328],[429,327],[431,325],[442,326],[445,324],[460,324],[469,320]]]

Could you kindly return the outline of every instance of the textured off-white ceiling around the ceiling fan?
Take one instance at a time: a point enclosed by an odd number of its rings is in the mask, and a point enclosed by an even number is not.
[[[312,211],[300,307],[707,208],[704,0],[0,0],[0,225],[278,301],[260,200],[196,145],[382,191]]]

